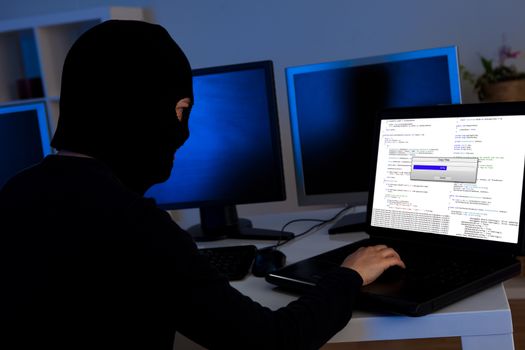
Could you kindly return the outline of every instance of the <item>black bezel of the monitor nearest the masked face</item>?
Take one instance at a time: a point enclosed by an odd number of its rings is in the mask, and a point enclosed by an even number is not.
[[[273,148],[273,159],[275,162],[275,167],[273,171],[279,173],[279,183],[281,188],[279,191],[279,196],[272,198],[271,200],[260,200],[254,198],[253,200],[221,200],[221,199],[212,199],[212,200],[202,200],[202,201],[184,201],[184,202],[157,202],[158,207],[165,210],[177,210],[177,209],[191,209],[191,208],[206,208],[206,207],[224,207],[224,206],[236,206],[242,204],[256,204],[256,203],[268,203],[268,202],[277,202],[286,200],[286,189],[285,189],[285,180],[284,180],[284,166],[283,166],[283,157],[281,151],[281,134],[279,127],[279,114],[277,106],[277,96],[275,89],[275,78],[274,78],[274,67],[273,61],[263,60],[263,61],[254,61],[238,64],[229,64],[222,66],[214,67],[205,67],[197,68],[192,70],[193,76],[202,76],[202,75],[211,75],[217,73],[228,73],[228,72],[241,72],[245,70],[254,70],[262,69],[266,78],[266,96],[268,99],[268,114],[269,114],[269,127],[271,134],[271,144]],[[196,101],[196,103],[199,103]],[[232,102],[234,103],[234,102]],[[191,114],[190,114],[191,120]],[[191,130],[190,130],[191,133]],[[190,134],[191,137],[191,134]],[[174,164],[176,167],[177,164]],[[176,169],[175,169],[176,170]]]

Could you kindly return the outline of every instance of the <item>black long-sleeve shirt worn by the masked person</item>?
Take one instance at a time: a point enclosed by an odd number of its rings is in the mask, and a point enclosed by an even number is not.
[[[0,232],[2,349],[172,349],[176,331],[210,349],[316,349],[362,284],[339,268],[286,307],[261,306],[95,159],[48,156],[9,181]]]

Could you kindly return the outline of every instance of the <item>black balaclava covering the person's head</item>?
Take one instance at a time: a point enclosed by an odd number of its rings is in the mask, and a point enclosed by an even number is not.
[[[168,179],[175,151],[189,136],[188,115],[179,122],[175,113],[186,97],[193,101],[191,67],[164,28],[103,22],[66,56],[51,145],[99,159],[143,194]]]

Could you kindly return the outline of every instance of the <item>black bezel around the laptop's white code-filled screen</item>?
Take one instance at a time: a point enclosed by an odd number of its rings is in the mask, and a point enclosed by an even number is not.
[[[372,226],[372,208],[374,198],[374,179],[377,167],[377,151],[379,147],[379,133],[381,120],[386,119],[421,119],[421,118],[445,118],[461,116],[494,116],[494,115],[523,115],[525,116],[525,102],[502,102],[502,103],[480,103],[480,104],[455,104],[425,107],[404,107],[385,109],[379,113],[374,126],[374,146],[372,152],[372,169],[369,184],[369,199],[367,205],[366,230],[370,236],[384,237],[392,240],[403,240],[408,242],[420,242],[449,248],[459,248],[474,252],[485,252],[487,254],[525,254],[525,176],[522,186],[522,203],[520,211],[520,223],[518,229],[518,242],[506,243],[497,241],[484,241],[481,239],[462,238],[455,236],[439,235],[424,232],[396,230]],[[525,173],[525,169],[524,169]]]

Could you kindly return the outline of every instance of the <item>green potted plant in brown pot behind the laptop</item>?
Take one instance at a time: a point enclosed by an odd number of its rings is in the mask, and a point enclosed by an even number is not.
[[[507,63],[515,59],[520,51],[512,51],[510,46],[502,45],[499,50],[499,62],[480,57],[483,74],[476,76],[461,66],[461,76],[474,85],[480,101],[523,101],[525,100],[525,72],[520,72],[514,65]]]

